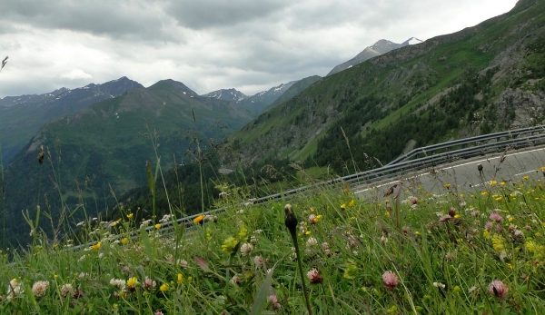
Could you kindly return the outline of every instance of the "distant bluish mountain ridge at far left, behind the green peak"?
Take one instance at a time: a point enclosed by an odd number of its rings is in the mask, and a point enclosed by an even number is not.
[[[0,145],[4,164],[11,161],[44,123],[136,87],[144,86],[122,77],[72,90],[61,88],[47,94],[6,96],[0,100]]]

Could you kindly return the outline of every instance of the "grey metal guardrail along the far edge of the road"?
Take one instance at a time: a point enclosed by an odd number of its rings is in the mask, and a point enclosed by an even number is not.
[[[541,132],[541,133],[538,133],[538,132]],[[370,184],[372,182],[379,182],[381,180],[398,176],[402,173],[421,170],[422,168],[433,167],[433,166],[437,166],[447,162],[455,162],[457,160],[468,159],[474,156],[485,155],[489,153],[508,152],[513,149],[521,149],[525,147],[545,144],[544,132],[545,132],[545,126],[540,125],[536,127],[523,128],[520,130],[514,130],[509,132],[490,133],[487,135],[465,138],[465,139],[451,141],[447,143],[434,144],[427,147],[415,149],[411,151],[411,153],[401,156],[398,159],[394,160],[394,162],[395,161],[398,161],[398,162],[396,163],[390,162],[377,169],[373,169],[373,170],[365,171],[365,172],[358,172],[352,175],[342,176],[342,177],[325,181],[325,182],[317,182],[312,185],[303,186],[303,187],[292,189],[286,192],[274,193],[269,196],[252,199],[250,202],[252,202],[253,204],[259,204],[263,202],[279,201],[293,194],[308,192],[308,191],[311,191],[312,189],[319,189],[319,188],[322,188],[325,186],[331,186],[334,184],[348,183],[352,186]],[[538,134],[530,134],[525,137],[520,136],[526,133],[538,133]],[[498,141],[498,139],[502,137],[510,137],[510,139]],[[491,140],[496,140],[496,142],[490,142]],[[485,141],[489,141],[489,143],[482,143]],[[481,143],[476,146],[465,147],[458,150],[453,150],[453,151],[448,151],[443,153],[436,153],[436,154],[427,155],[421,158],[417,158],[414,160],[409,160],[409,158],[416,156],[418,153],[430,153],[433,151],[448,149],[448,148],[452,148],[452,147],[463,145],[463,144],[479,143],[479,142]],[[243,204],[241,204],[241,206],[242,205]],[[213,209],[208,212],[198,213],[191,216],[183,217],[176,221],[168,221],[163,223],[161,228],[157,231],[161,232],[164,235],[170,235],[173,233],[173,230],[174,230],[173,224],[183,224],[186,228],[189,228],[193,226],[193,219],[196,218],[197,216],[202,214],[213,215],[214,213],[223,212],[226,209],[227,208]],[[155,230],[154,226],[148,226],[145,228],[145,231],[152,231],[152,230]],[[131,232],[131,236],[133,238],[137,237],[137,234],[138,234],[138,231]],[[121,238],[121,236],[118,236],[118,238]],[[72,247],[72,249],[74,250],[82,249],[85,247],[89,247],[93,245],[94,243],[95,242],[89,242],[86,244],[77,245]]]

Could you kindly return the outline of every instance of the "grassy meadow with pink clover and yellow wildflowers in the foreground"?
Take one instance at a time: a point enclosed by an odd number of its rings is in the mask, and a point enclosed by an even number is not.
[[[304,314],[304,289],[312,314],[545,313],[543,171],[463,193],[401,185],[379,202],[339,185],[252,204],[225,186],[225,212],[168,235],[177,212],[88,218],[84,250],[36,233],[3,252],[0,313]]]

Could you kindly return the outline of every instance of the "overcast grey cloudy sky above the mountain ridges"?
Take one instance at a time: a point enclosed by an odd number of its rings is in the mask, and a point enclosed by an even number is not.
[[[1,0],[0,98],[126,76],[253,95],[380,39],[451,34],[516,0]]]

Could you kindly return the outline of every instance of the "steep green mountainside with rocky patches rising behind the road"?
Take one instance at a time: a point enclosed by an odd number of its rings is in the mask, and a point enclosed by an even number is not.
[[[290,159],[337,173],[411,146],[542,123],[545,2],[407,45],[312,84],[233,133],[223,163]]]

